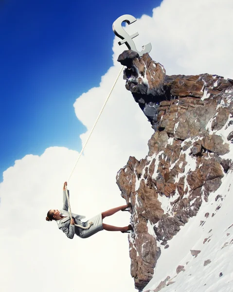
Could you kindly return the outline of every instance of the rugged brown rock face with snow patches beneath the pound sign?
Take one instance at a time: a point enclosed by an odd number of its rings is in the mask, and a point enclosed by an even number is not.
[[[122,197],[133,206],[131,275],[142,290],[153,276],[161,245],[197,215],[232,168],[232,160],[221,156],[233,141],[233,80],[167,76],[148,54],[139,57],[130,50],[118,60],[127,66],[126,89],[155,129],[148,155],[140,161],[129,157],[117,174]]]

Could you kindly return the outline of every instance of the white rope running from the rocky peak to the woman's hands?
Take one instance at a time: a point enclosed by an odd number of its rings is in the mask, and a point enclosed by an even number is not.
[[[96,126],[96,124],[97,124],[97,122],[98,122],[98,120],[99,120],[99,118],[100,118],[100,116],[101,116],[101,114],[102,114],[102,112],[103,112],[103,110],[104,110],[104,108],[105,108],[107,102],[108,102],[108,99],[109,99],[109,97],[110,97],[110,95],[111,95],[111,93],[112,93],[112,91],[113,91],[113,89],[114,89],[114,87],[115,87],[115,85],[116,85],[116,83],[117,83],[118,78],[120,77],[120,75],[121,75],[121,73],[122,73],[123,68],[124,68],[124,66],[122,66],[120,72],[118,73],[118,75],[117,75],[117,77],[116,77],[115,82],[114,82],[113,85],[112,85],[111,90],[110,90],[109,93],[108,93],[108,97],[106,98],[106,101],[105,101],[105,103],[104,103],[102,109],[100,110],[100,113],[99,113],[99,115],[98,115],[98,117],[97,117],[97,119],[96,119],[96,121],[95,121],[95,123],[94,123],[94,125],[93,125],[93,127],[92,127],[92,129],[91,129],[91,131],[90,131],[90,134],[89,134],[89,136],[88,136],[87,141],[85,142],[85,144],[84,144],[84,146],[83,146],[81,152],[79,153],[78,159],[77,159],[76,163],[74,164],[74,167],[73,167],[72,172],[71,172],[71,174],[70,174],[70,176],[69,176],[69,179],[67,180],[67,183],[69,182],[70,178],[72,177],[72,174],[73,174],[73,172],[74,172],[74,169],[75,169],[75,167],[76,167],[76,165],[77,165],[77,163],[78,163],[78,161],[79,161],[79,159],[80,159],[80,157],[81,157],[81,155],[82,155],[82,153],[83,153],[85,147],[86,147],[87,144],[88,144],[88,141],[89,141],[89,139],[90,139],[90,136],[91,136],[91,134],[92,134],[92,132],[93,132],[93,130],[94,130],[94,128],[95,128],[95,126]],[[69,194],[68,194],[67,186],[65,186],[65,188],[66,188],[66,197],[67,197],[68,206],[69,206],[68,211],[69,211],[69,214],[70,214],[70,218],[72,219],[71,204],[70,204],[70,198],[69,198]],[[91,226],[92,224],[93,224],[92,222],[89,222],[89,224],[88,224],[87,227],[84,227],[84,226],[82,226],[82,225],[78,225],[78,224],[74,224],[74,225],[77,226],[77,227],[80,227],[80,228],[82,228],[82,229],[89,229],[90,226]]]

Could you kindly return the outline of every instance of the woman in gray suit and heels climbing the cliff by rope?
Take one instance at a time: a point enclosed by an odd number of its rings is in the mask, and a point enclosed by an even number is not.
[[[116,227],[116,226],[108,225],[102,222],[102,220],[105,217],[111,216],[120,210],[128,211],[128,208],[132,207],[131,203],[105,211],[91,218],[87,222],[80,221],[80,219],[84,219],[85,216],[77,215],[74,213],[72,213],[72,219],[70,219],[70,214],[68,212],[68,201],[67,201],[67,196],[66,196],[66,186],[67,186],[67,182],[65,182],[63,186],[62,210],[60,211],[57,209],[49,210],[46,220],[47,221],[56,220],[58,228],[62,230],[68,238],[72,239],[74,234],[82,238],[87,238],[101,230],[121,231],[122,233],[129,232],[130,230],[132,230],[132,226],[130,224],[125,227]],[[69,190],[68,190],[68,196],[70,196]],[[75,222],[78,226],[74,225]]]

